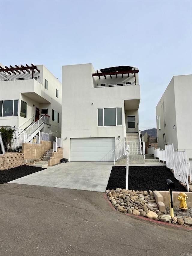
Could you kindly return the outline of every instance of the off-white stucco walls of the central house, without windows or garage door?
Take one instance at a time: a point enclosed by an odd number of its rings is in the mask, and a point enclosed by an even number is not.
[[[125,130],[138,131],[140,85],[138,73],[93,77],[92,64],[62,67],[62,133],[64,157],[70,160],[71,138],[113,137],[115,147],[125,139]],[[126,85],[126,82],[132,84]],[[104,86],[105,84],[105,86]],[[118,85],[119,84],[119,85]],[[121,85],[122,84],[122,85]],[[105,126],[98,123],[99,109],[122,109],[122,124]],[[135,116],[135,128],[127,127],[127,116]],[[120,121],[121,122],[121,121]]]

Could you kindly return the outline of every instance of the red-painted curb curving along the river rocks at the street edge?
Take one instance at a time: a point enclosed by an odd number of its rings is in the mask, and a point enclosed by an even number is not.
[[[104,197],[105,199],[108,201],[108,204],[109,206],[116,212],[119,212],[118,210],[115,209],[115,207],[111,204],[109,198],[107,197],[107,194],[104,193]],[[122,214],[122,212],[119,212],[120,214]],[[172,224],[172,223],[168,223],[168,222],[163,222],[163,221],[156,221],[156,220],[152,220],[152,219],[149,219],[149,218],[146,218],[146,217],[143,217],[143,216],[138,216],[138,215],[134,215],[134,214],[131,214],[131,213],[123,213],[124,215],[128,215],[129,217],[131,218],[135,218],[135,219],[142,219],[142,220],[145,220],[145,221],[148,221],[148,222],[155,222],[156,224],[160,224],[160,225],[168,225],[170,227],[176,227],[176,228],[183,228],[183,229],[186,229],[186,230],[192,230],[191,227],[187,227],[187,226],[183,226],[183,225],[178,225],[178,224]]]

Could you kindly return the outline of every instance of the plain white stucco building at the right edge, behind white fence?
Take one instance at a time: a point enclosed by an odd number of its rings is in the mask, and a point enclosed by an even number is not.
[[[192,166],[192,75],[174,76],[156,107],[158,147],[186,149]]]

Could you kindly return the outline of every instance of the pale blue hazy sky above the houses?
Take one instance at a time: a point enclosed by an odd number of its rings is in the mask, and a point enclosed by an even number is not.
[[[0,1],[0,62],[139,68],[140,129],[174,75],[192,74],[192,1]]]

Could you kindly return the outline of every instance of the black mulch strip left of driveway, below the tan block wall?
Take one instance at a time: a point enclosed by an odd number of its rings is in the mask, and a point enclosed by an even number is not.
[[[21,165],[15,168],[11,168],[9,170],[0,171],[0,184],[7,183],[14,179],[21,178],[23,176],[27,176],[32,173],[39,172],[44,170],[45,168],[29,166],[29,165]]]

